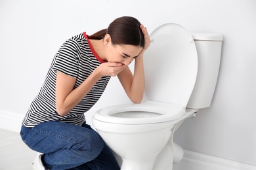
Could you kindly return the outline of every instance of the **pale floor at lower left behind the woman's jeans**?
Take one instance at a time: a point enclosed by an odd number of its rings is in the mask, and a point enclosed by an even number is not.
[[[22,142],[19,133],[0,129],[1,170],[32,170],[35,154]]]

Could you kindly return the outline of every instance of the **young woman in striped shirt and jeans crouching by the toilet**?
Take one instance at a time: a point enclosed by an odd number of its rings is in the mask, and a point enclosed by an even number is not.
[[[118,76],[131,101],[142,101],[143,53],[149,45],[146,27],[129,16],[62,44],[22,121],[22,140],[43,153],[35,158],[34,169],[119,169],[108,146],[85,123],[84,113],[98,101],[110,76]],[[133,60],[132,75],[127,66]]]

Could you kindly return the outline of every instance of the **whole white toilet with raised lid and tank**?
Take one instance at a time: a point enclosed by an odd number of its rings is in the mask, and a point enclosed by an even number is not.
[[[182,25],[160,25],[144,53],[142,103],[98,110],[93,126],[116,154],[121,170],[166,170],[182,160],[173,133],[215,91],[223,37],[190,33]]]

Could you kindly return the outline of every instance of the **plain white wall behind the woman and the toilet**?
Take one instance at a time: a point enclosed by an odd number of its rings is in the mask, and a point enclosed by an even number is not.
[[[148,31],[177,22],[190,31],[223,34],[219,80],[209,109],[186,120],[175,141],[183,148],[256,165],[256,1],[254,0],[0,0],[0,110],[26,113],[62,42],[92,34],[119,16]],[[128,99],[112,78],[87,113]]]

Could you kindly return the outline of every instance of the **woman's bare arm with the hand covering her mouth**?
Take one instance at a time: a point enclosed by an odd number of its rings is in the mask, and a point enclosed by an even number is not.
[[[75,89],[76,78],[57,71],[55,93],[58,114],[66,116],[90,92],[102,76],[116,76],[124,67],[126,66],[121,63],[102,63]]]

